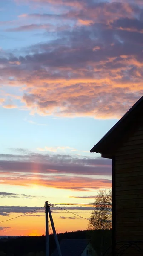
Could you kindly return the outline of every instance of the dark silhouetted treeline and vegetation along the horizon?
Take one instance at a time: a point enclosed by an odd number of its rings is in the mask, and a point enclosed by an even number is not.
[[[90,239],[100,256],[101,251],[105,251],[111,245],[112,230],[75,231],[59,233],[57,236],[59,241],[62,239]],[[49,245],[51,254],[55,248],[54,235],[49,235]],[[0,256],[45,256],[45,236],[0,239]]]

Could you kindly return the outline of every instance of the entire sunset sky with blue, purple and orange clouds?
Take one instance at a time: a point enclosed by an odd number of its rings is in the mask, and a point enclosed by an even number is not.
[[[111,160],[89,151],[143,95],[142,76],[143,0],[0,0],[0,221],[49,201],[87,219],[53,207],[57,232],[86,230],[112,186]],[[0,235],[43,235],[44,214]]]

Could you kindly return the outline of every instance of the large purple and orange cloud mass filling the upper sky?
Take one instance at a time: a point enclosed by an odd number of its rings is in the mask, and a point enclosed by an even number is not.
[[[47,12],[22,14],[19,22],[6,25],[7,30],[44,29],[47,41],[29,45],[22,53],[1,52],[2,83],[23,92],[17,105],[40,115],[108,119],[119,118],[140,98],[142,1],[26,3],[47,6]],[[48,12],[48,6],[53,7],[53,13]],[[3,98],[7,98],[4,92]],[[3,101],[1,105],[5,106]]]

